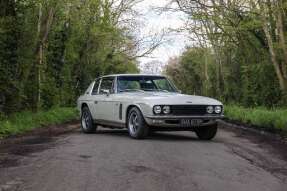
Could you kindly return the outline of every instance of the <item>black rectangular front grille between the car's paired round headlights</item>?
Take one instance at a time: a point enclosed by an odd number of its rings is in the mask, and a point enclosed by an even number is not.
[[[204,115],[206,112],[206,105],[172,105],[172,115]]]

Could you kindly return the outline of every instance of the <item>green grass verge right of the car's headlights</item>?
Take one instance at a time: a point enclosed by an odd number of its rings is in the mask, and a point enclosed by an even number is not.
[[[245,108],[232,105],[225,106],[224,113],[228,119],[287,135],[287,109]]]

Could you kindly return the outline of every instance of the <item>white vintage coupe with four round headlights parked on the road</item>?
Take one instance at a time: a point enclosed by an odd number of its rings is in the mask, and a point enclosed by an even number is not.
[[[217,132],[223,118],[221,102],[202,96],[181,94],[161,75],[116,74],[97,78],[77,107],[81,128],[92,133],[97,126],[127,128],[132,138],[149,131],[194,131],[203,140]]]

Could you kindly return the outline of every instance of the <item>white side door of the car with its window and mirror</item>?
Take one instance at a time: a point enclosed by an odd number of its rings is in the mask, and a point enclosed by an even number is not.
[[[115,77],[103,77],[100,83],[96,110],[98,120],[114,121],[114,84]],[[107,93],[108,91],[108,93]]]

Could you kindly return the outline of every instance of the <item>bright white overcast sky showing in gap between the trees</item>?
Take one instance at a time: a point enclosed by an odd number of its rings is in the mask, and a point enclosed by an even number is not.
[[[169,28],[176,29],[184,25],[184,14],[181,12],[164,12],[159,14],[155,7],[163,7],[168,0],[144,0],[136,6],[136,11],[141,14],[138,18],[142,23],[140,26],[141,36],[149,36],[150,34],[160,33]],[[184,47],[187,45],[187,39],[182,34],[169,34],[165,37],[168,41],[157,48],[149,58],[140,58],[141,64],[152,60],[159,60],[166,63],[169,57],[180,55]]]

